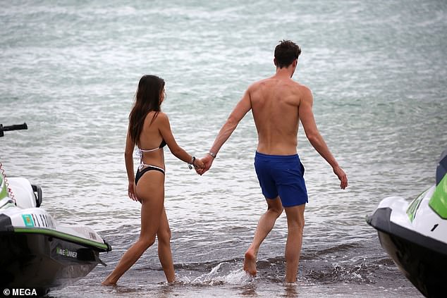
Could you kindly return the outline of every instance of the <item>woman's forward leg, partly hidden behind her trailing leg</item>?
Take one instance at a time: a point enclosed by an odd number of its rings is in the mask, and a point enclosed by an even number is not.
[[[157,239],[159,244],[159,259],[164,275],[168,283],[173,283],[176,280],[174,273],[174,265],[171,253],[171,229],[169,228],[168,217],[166,210],[163,209],[160,218],[159,230],[157,231]]]

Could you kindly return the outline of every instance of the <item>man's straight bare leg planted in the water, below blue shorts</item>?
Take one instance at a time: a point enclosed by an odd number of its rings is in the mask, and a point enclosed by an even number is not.
[[[296,275],[298,274],[305,206],[306,204],[284,207],[288,227],[286,243],[286,283],[295,283]]]

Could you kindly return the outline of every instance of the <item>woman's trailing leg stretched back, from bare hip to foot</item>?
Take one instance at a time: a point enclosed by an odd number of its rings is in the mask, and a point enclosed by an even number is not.
[[[164,210],[164,174],[156,170],[145,173],[137,185],[137,197],[142,204],[140,238],[123,254],[115,270],[102,285],[116,285],[121,275],[154,244]]]

